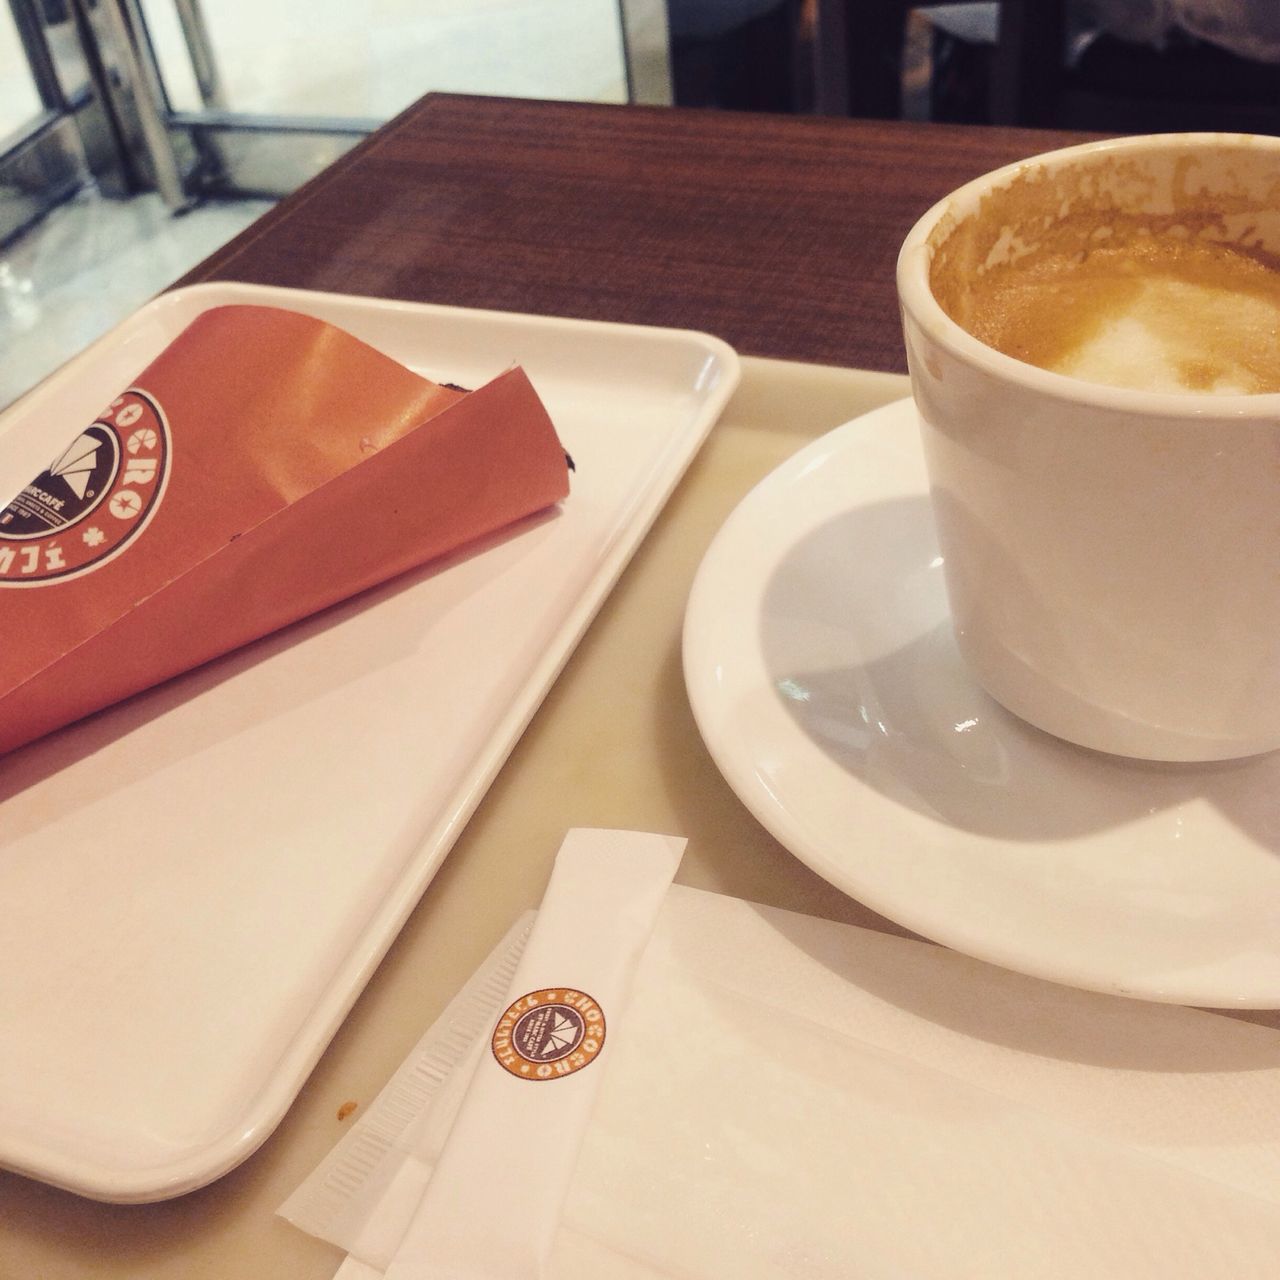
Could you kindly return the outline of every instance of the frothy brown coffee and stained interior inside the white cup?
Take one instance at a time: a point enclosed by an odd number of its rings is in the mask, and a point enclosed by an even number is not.
[[[1270,166],[1268,166],[1270,168]],[[1270,168],[1274,173],[1274,168]],[[1014,358],[1148,390],[1280,390],[1280,183],[1192,156],[1029,168],[931,237],[943,311]]]

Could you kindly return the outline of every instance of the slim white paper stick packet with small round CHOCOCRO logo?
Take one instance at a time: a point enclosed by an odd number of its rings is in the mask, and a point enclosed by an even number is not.
[[[387,1280],[543,1275],[611,1028],[684,849],[634,831],[564,837],[498,1025],[465,1059],[457,1117]]]

